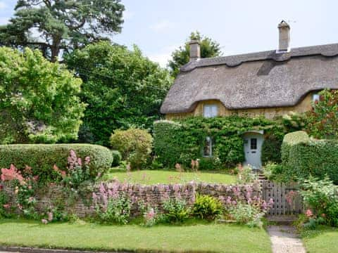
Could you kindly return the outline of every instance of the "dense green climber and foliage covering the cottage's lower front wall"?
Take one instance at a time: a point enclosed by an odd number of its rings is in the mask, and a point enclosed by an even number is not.
[[[190,167],[192,160],[201,160],[203,140],[211,136],[213,159],[219,159],[220,163],[217,167],[234,167],[244,161],[242,134],[251,130],[264,130],[266,134],[276,136],[287,132],[282,123],[263,117],[189,117],[180,122],[163,120],[154,124],[154,151],[165,167],[173,167],[176,163]],[[268,156],[266,159],[273,160]]]

